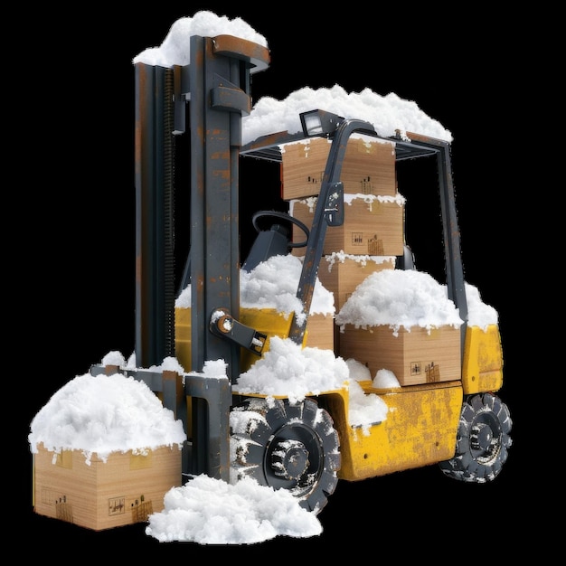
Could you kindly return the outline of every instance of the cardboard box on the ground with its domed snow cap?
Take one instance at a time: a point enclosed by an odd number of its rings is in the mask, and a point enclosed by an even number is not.
[[[95,531],[141,523],[181,485],[183,423],[133,377],[76,377],[31,429],[37,514]]]

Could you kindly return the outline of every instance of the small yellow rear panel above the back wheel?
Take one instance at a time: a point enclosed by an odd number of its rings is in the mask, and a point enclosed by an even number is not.
[[[503,350],[497,325],[487,326],[486,331],[479,326],[467,327],[462,385],[467,395],[501,389]]]

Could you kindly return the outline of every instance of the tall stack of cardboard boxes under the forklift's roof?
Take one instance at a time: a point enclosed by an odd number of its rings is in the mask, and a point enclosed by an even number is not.
[[[282,194],[289,213],[312,226],[331,141],[310,138],[282,148]],[[403,252],[404,198],[397,191],[395,144],[368,136],[348,140],[340,172],[344,223],[326,229],[318,278],[335,297],[336,312],[373,271],[394,269]],[[293,226],[293,241],[305,236]],[[293,248],[302,256],[305,248]],[[340,335],[335,327],[334,345]],[[312,337],[312,335],[310,335]]]

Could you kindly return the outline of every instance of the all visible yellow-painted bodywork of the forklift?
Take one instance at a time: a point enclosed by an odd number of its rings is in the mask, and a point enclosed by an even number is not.
[[[287,337],[292,316],[275,309],[241,308],[240,321],[268,336]],[[191,309],[175,309],[175,348],[179,363],[191,367]],[[241,372],[258,356],[242,349]],[[503,382],[503,355],[497,325],[486,331],[467,328],[462,379],[423,383],[388,390],[360,382],[366,394],[376,394],[388,407],[387,418],[365,434],[348,422],[348,390],[325,391],[318,401],[335,421],[342,465],[338,476],[354,481],[405,469],[428,466],[452,458],[464,394],[495,391]],[[234,391],[237,394],[237,391]],[[258,395],[262,397],[263,395]]]

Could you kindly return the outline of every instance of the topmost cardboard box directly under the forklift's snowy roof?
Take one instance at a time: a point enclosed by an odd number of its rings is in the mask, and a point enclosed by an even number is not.
[[[320,192],[332,142],[322,137],[281,147],[284,200]],[[351,137],[346,146],[340,179],[345,193],[389,194],[397,192],[394,142],[375,137]]]

